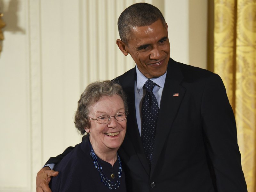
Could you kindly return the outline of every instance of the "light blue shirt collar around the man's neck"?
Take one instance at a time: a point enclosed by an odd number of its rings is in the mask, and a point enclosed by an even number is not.
[[[137,65],[136,65],[136,74],[137,74],[137,90],[138,90],[138,93],[140,93],[140,91],[143,89],[144,84],[146,83],[146,81],[148,81],[148,78],[145,77],[140,72]],[[166,77],[166,71],[164,75],[157,78],[152,78],[151,81],[153,81],[159,87],[164,88],[165,77]]]

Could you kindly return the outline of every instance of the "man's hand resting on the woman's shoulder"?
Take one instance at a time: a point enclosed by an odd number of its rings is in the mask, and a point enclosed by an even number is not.
[[[52,192],[49,182],[52,177],[56,177],[59,172],[50,170],[50,167],[43,167],[36,175],[36,192]]]

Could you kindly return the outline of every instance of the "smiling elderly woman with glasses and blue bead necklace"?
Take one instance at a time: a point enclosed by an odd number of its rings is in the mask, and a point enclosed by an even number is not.
[[[126,98],[111,81],[89,84],[78,101],[76,128],[87,138],[66,155],[55,170],[55,191],[126,191],[117,150],[126,132]]]

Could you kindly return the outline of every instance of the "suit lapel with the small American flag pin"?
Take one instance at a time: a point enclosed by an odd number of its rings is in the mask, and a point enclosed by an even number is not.
[[[155,147],[150,177],[154,173],[158,158],[164,148],[165,140],[171,130],[173,120],[186,92],[186,89],[180,85],[182,79],[183,75],[179,66],[170,58],[157,119]],[[179,96],[173,96],[175,93],[178,93]]]

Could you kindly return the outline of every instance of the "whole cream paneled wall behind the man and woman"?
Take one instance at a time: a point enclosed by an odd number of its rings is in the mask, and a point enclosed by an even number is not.
[[[136,2],[164,13],[173,59],[206,68],[204,0],[0,0],[0,192],[35,191],[46,160],[81,141],[73,116],[85,86],[134,67],[115,42]]]

